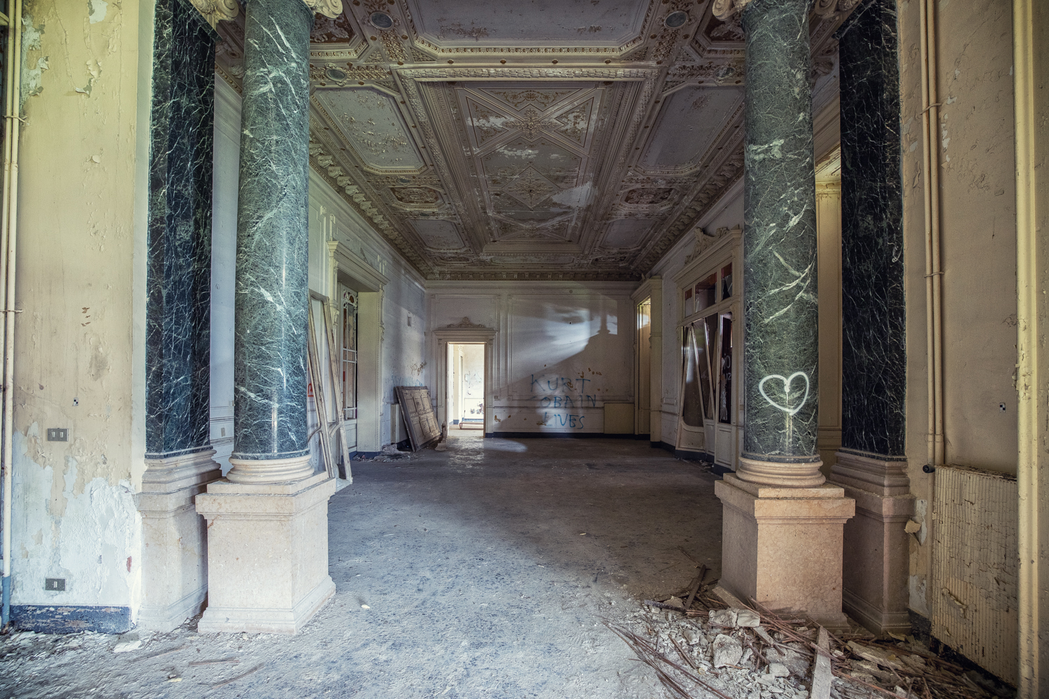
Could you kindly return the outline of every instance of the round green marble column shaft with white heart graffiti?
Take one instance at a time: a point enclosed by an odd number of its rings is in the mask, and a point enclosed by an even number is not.
[[[752,0],[744,151],[744,458],[818,485],[816,209],[809,2]],[[740,477],[755,477],[746,462]],[[774,469],[774,468],[773,468]],[[786,483],[785,483],[786,484]]]

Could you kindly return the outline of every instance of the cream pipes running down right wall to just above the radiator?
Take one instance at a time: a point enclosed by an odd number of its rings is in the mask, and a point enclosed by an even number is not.
[[[928,391],[926,471],[944,463],[942,276],[940,264],[940,122],[936,88],[936,3],[921,0],[922,157],[925,169],[925,351]]]

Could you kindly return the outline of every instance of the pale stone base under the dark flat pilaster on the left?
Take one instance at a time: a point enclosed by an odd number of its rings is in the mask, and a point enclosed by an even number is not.
[[[146,459],[142,493],[135,496],[143,525],[143,604],[136,624],[171,631],[200,612],[208,595],[208,538],[194,498],[222,471],[208,449]]]

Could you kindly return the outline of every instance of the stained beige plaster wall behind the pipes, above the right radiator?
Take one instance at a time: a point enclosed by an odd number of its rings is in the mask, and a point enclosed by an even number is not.
[[[1016,233],[1012,13],[993,0],[937,0],[943,394],[946,461],[1016,472]],[[926,463],[925,227],[920,6],[899,4],[907,312],[908,475],[917,498],[909,605],[933,604],[934,477]],[[1005,410],[1000,406],[1004,405]],[[924,540],[919,542],[919,538]]]

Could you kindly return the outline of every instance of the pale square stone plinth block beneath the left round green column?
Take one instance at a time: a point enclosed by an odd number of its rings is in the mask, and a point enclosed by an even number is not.
[[[327,572],[326,474],[266,485],[216,481],[208,521],[208,609],[197,631],[296,633],[335,594]]]

